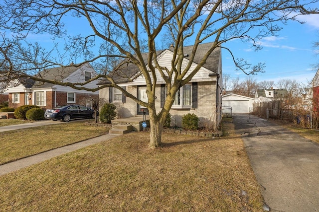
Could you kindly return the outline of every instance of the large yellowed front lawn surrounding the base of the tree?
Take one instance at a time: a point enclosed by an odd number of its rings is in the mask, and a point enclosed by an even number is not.
[[[127,134],[0,180],[4,211],[261,212],[262,196],[243,141]]]

